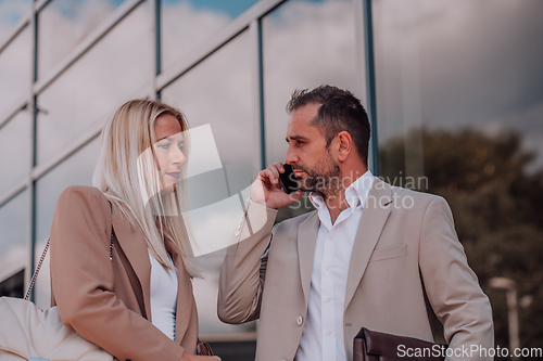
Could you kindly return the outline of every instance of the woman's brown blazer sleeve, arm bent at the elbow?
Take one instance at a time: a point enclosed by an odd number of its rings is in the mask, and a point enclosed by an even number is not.
[[[184,348],[113,293],[111,228],[109,205],[97,194],[73,186],[59,197],[51,225],[51,291],[63,323],[119,360],[179,361]]]

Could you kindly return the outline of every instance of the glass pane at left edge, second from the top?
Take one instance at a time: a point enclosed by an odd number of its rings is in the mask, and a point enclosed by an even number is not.
[[[31,86],[31,39],[26,27],[0,53],[0,121],[14,103],[29,96]]]

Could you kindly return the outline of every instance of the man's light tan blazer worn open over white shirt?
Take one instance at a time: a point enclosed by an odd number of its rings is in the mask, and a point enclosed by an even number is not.
[[[220,320],[261,320],[257,361],[295,357],[319,227],[313,211],[272,230],[275,216],[275,210],[250,203],[235,234],[235,241],[243,241],[228,248],[219,281]],[[435,315],[451,348],[494,346],[490,302],[467,265],[446,202],[376,179],[349,265],[343,313],[348,359],[363,326],[433,340]],[[472,359],[484,359],[478,356]]]

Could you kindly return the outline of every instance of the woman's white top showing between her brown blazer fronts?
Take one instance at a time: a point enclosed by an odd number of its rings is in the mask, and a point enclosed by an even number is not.
[[[151,253],[149,259],[151,260],[151,319],[156,328],[175,339],[177,272],[164,269]]]

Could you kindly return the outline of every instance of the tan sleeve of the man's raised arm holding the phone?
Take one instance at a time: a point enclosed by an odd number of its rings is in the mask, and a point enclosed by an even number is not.
[[[220,321],[239,324],[260,317],[262,292],[277,210],[251,201],[228,247],[218,282]]]

